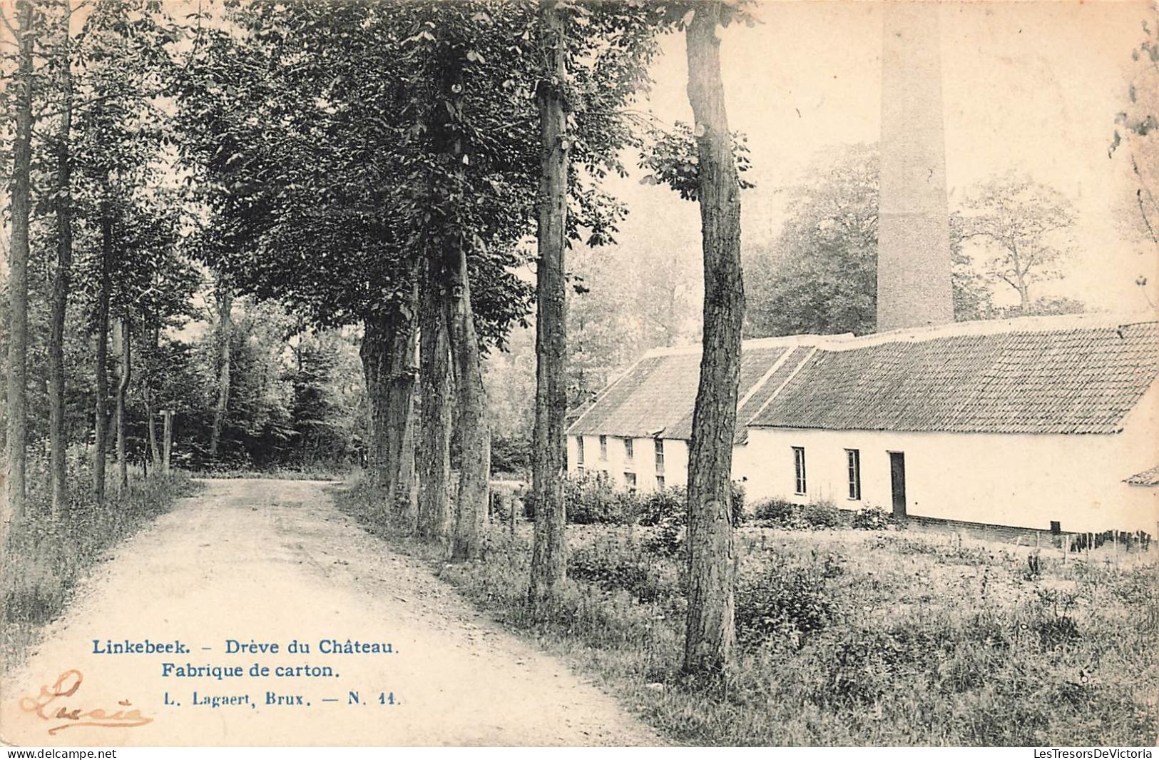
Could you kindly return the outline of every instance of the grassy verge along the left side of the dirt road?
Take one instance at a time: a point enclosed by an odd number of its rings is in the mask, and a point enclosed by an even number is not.
[[[59,517],[50,515],[48,493],[29,493],[27,515],[13,526],[0,577],[0,657],[3,669],[16,665],[41,627],[68,603],[76,584],[105,552],[173,502],[196,492],[188,475],[137,477],[126,492],[110,486],[103,507],[89,502],[86,472],[70,480],[72,498]],[[39,484],[41,478],[30,478]]]

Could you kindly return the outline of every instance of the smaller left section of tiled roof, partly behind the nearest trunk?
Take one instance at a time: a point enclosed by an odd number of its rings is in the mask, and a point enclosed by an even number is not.
[[[806,336],[809,339],[812,336]],[[801,339],[745,341],[741,353],[741,382],[737,399],[766,378],[782,356],[800,352]],[[799,356],[802,356],[799,354]],[[800,359],[797,360],[800,361]],[[775,372],[774,372],[775,375]],[[595,403],[571,424],[571,435],[622,435],[666,439],[692,435],[692,411],[700,382],[699,348],[662,349],[647,354],[619,379],[608,385]],[[764,385],[761,385],[764,388]],[[744,408],[758,407],[745,404]],[[743,432],[744,418],[737,417]]]

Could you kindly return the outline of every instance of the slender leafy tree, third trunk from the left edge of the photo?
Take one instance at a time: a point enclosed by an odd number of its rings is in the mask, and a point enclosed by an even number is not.
[[[104,500],[109,448],[109,328],[131,319],[153,268],[148,219],[165,205],[153,191],[167,121],[155,102],[172,71],[172,21],[151,0],[99,0],[88,9],[73,45],[71,146],[74,216],[82,233],[75,285],[90,311],[95,335],[93,492]],[[144,211],[148,210],[148,211]],[[146,275],[147,276],[147,275]]]

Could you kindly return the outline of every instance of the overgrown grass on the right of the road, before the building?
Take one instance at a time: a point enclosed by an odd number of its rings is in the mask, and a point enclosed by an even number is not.
[[[656,529],[569,526],[570,577],[545,622],[525,599],[531,526],[488,526],[484,560],[340,507],[430,563],[496,621],[693,745],[1144,745],[1157,739],[1153,553],[1121,567],[903,530],[737,534],[738,656],[723,689],[680,675],[681,556]]]

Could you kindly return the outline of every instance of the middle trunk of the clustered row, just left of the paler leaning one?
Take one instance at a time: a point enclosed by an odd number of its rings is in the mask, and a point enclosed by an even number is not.
[[[422,429],[418,456],[418,526],[421,538],[447,533],[451,475],[451,357],[445,294],[438,262],[427,256],[418,316]]]

